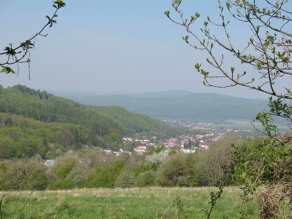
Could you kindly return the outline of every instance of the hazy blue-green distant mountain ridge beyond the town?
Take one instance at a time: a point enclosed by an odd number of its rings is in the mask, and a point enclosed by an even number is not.
[[[223,123],[227,119],[253,120],[268,109],[264,100],[217,93],[166,91],[133,95],[66,96],[86,105],[120,106],[157,119]]]

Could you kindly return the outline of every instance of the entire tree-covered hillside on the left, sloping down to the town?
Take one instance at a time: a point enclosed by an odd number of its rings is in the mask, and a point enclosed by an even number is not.
[[[86,106],[22,85],[0,86],[0,121],[0,157],[5,158],[50,157],[48,151],[86,144],[103,148],[136,132],[178,134],[164,122],[121,107]]]

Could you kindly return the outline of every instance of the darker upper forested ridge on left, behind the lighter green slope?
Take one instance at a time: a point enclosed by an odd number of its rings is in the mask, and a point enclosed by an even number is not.
[[[48,94],[22,85],[0,85],[0,112],[17,114],[44,122],[72,123],[85,126],[99,136],[119,130],[121,135],[159,131],[175,134],[168,124],[121,107],[94,107]]]

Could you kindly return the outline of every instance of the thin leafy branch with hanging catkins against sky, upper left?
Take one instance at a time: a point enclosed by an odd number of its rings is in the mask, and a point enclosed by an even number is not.
[[[46,18],[48,18],[48,22],[46,23],[46,25],[44,25],[44,27],[41,28],[41,30],[39,32],[34,34],[31,38],[20,43],[19,46],[13,47],[12,44],[9,44],[9,46],[6,46],[4,48],[4,52],[0,53],[0,55],[6,56],[6,58],[4,58],[5,61],[0,62],[0,67],[2,67],[0,72],[5,73],[5,74],[8,74],[8,73],[15,74],[15,71],[9,66],[16,64],[17,65],[17,75],[18,75],[19,74],[19,63],[27,62],[28,63],[28,71],[29,71],[28,78],[30,79],[30,49],[34,48],[34,42],[35,42],[35,39],[37,36],[44,36],[44,37],[47,36],[47,34],[42,34],[43,30],[45,29],[45,27],[47,27],[47,26],[52,27],[53,24],[57,23],[57,21],[54,20],[56,17],[58,17],[57,11],[60,8],[65,7],[66,4],[62,0],[57,0],[57,1],[53,1],[52,6],[55,8],[55,12],[53,13],[51,18],[48,15],[46,15]]]

